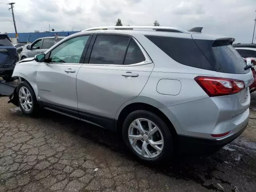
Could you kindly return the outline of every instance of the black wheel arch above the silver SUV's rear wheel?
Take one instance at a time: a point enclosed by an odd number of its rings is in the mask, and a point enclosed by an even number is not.
[[[175,138],[177,138],[176,137],[177,132],[176,132],[172,122],[167,118],[167,116],[162,111],[160,111],[158,108],[156,108],[155,106],[152,106],[150,104],[143,103],[143,102],[130,103],[130,104],[126,105],[124,108],[122,108],[122,110],[118,114],[118,118],[117,118],[116,128],[117,128],[118,132],[120,132],[122,130],[122,124],[123,124],[126,116],[136,110],[147,110],[147,111],[150,111],[150,112],[156,114],[157,116],[159,116],[164,121],[164,123],[167,125],[167,127],[171,131],[172,135]]]

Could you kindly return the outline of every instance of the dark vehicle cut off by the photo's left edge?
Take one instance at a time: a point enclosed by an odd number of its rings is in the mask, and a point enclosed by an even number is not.
[[[6,81],[13,81],[12,72],[19,56],[7,34],[0,33],[0,77]]]

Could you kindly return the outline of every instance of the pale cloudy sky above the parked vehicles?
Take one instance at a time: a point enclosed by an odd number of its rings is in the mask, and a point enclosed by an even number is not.
[[[250,43],[256,18],[256,0],[0,0],[0,32],[14,32],[9,2],[16,3],[18,33],[48,31],[49,24],[55,31],[80,31],[113,26],[120,18],[130,26],[152,26],[154,20],[184,30],[202,26],[204,33]]]

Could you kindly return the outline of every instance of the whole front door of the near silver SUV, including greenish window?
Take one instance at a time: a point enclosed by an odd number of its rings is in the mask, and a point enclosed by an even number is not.
[[[36,80],[41,101],[77,110],[76,75],[88,39],[70,38],[51,50],[48,63],[40,63]]]

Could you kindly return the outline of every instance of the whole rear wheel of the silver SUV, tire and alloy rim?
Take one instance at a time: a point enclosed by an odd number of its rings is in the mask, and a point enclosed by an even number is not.
[[[124,120],[122,135],[128,148],[140,160],[163,162],[173,154],[171,132],[152,112],[137,110],[130,113]]]

